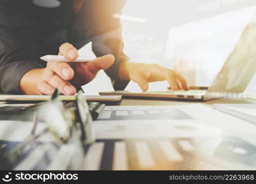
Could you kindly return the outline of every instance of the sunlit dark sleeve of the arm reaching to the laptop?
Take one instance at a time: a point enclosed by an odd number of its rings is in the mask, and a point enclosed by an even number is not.
[[[118,70],[129,58],[123,53],[120,20],[115,15],[122,13],[125,0],[87,0],[74,23],[74,42],[85,39],[92,42],[96,56],[112,54],[114,64],[105,72],[111,78],[115,90],[124,90],[129,81],[119,79]]]

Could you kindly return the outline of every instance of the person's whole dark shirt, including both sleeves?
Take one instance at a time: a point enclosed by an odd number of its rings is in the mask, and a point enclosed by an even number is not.
[[[115,63],[106,70],[115,90],[128,81],[118,78],[118,69],[128,57],[123,53],[120,20],[125,0],[85,0],[79,13],[71,0],[56,8],[38,7],[31,0],[0,0],[0,93],[19,94],[21,77],[42,68],[43,55],[58,55],[61,44],[77,49],[92,42],[96,56],[112,54]]]

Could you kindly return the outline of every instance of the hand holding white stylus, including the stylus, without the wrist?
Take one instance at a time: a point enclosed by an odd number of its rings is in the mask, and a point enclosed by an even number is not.
[[[98,71],[107,69],[114,63],[112,55],[105,55],[92,61],[83,60],[79,58],[76,48],[68,43],[61,45],[59,57],[46,56],[43,59],[49,60],[42,80],[37,85],[42,94],[52,94],[55,88],[63,94],[75,94],[75,86],[85,85],[95,78]],[[55,61],[51,62],[50,59]]]

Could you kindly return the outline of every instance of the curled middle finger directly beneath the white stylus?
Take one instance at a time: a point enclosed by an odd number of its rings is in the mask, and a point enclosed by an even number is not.
[[[74,70],[68,63],[56,62],[47,65],[47,68],[55,72],[64,80],[71,80],[74,77]]]

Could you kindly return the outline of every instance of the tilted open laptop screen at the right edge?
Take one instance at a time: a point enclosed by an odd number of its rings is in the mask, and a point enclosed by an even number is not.
[[[209,91],[242,93],[256,71],[256,13],[246,26]]]

